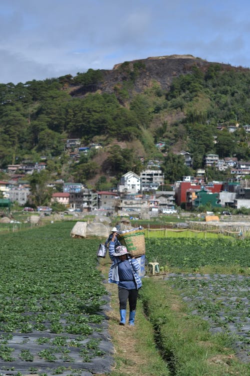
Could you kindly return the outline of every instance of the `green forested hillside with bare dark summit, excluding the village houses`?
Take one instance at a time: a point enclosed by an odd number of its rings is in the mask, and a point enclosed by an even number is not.
[[[249,117],[250,70],[189,55],[0,84],[0,168],[43,156],[57,178],[98,187],[129,169],[139,172],[143,156],[163,160],[171,181],[193,173],[183,163],[179,167],[180,150],[192,154],[193,169],[202,167],[205,153],[249,160],[243,128]],[[103,147],[75,161],[65,152],[68,138]],[[158,141],[165,144],[161,151]]]

